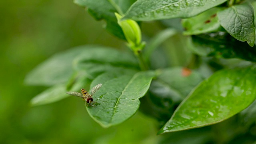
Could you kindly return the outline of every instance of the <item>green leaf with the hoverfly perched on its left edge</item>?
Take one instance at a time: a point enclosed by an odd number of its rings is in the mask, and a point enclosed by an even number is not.
[[[139,98],[148,91],[154,75],[151,71],[136,74],[125,71],[98,76],[91,88],[99,83],[102,87],[93,96],[96,106],[86,107],[88,113],[103,127],[124,122],[138,110]]]

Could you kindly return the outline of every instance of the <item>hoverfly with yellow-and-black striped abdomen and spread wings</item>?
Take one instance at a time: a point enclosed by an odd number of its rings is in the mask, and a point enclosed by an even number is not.
[[[78,96],[84,99],[84,102],[86,104],[86,106],[90,105],[90,106],[95,106],[92,105],[92,96],[93,94],[95,94],[95,92],[97,92],[97,90],[100,89],[102,84],[98,84],[96,86],[94,86],[91,90],[91,94],[89,94],[86,90],[84,90],[83,88],[81,89],[81,93],[79,92],[66,92],[69,95],[73,95],[73,96]]]

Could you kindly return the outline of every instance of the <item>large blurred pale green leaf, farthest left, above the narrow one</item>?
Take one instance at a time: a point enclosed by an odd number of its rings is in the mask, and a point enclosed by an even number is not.
[[[25,78],[25,83],[30,85],[52,86],[67,82],[72,76],[72,62],[76,56],[87,49],[96,46],[78,46],[76,48],[55,54],[48,60],[39,64]]]

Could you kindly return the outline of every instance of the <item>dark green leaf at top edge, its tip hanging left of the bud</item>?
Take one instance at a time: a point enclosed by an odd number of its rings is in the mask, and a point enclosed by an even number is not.
[[[96,20],[106,20],[106,30],[115,36],[125,39],[122,29],[117,24],[114,12],[126,12],[134,0],[74,0],[80,6],[86,6]]]

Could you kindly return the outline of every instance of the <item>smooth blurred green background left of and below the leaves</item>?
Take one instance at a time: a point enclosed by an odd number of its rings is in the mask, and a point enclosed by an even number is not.
[[[75,97],[30,107],[46,87],[26,86],[24,78],[53,54],[83,44],[114,48],[124,42],[108,34],[72,0],[0,1],[0,143],[157,143],[156,121],[137,112],[126,122],[102,128]]]

